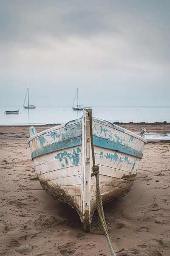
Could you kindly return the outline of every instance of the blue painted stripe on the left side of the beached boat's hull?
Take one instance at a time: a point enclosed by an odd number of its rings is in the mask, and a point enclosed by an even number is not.
[[[79,146],[79,145],[82,145],[82,137],[81,136],[76,137],[76,138],[71,138],[68,140],[54,142],[53,144],[46,145],[42,148],[38,148],[31,153],[31,157],[35,158],[35,157],[42,156],[43,154],[48,154],[48,153],[55,152],[55,151],[58,151],[61,149],[71,148],[71,147],[75,147],[75,146]]]

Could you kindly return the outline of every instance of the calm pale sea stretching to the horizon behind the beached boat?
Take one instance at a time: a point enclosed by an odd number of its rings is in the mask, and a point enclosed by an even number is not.
[[[71,107],[37,107],[24,109],[19,114],[6,115],[5,111],[19,107],[0,107],[0,125],[11,124],[56,124],[82,116],[82,111]],[[111,122],[170,122],[170,107],[94,107],[93,116]]]

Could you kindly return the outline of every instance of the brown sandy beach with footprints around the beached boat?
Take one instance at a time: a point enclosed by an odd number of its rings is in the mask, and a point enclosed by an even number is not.
[[[170,132],[167,123],[121,126]],[[28,126],[0,127],[0,255],[111,255],[96,212],[91,233],[84,233],[77,212],[42,190],[28,137]],[[117,256],[170,255],[169,177],[170,141],[147,143],[132,190],[104,205]]]

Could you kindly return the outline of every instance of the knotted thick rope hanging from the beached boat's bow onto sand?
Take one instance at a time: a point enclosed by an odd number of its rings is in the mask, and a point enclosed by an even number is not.
[[[92,167],[93,173],[91,174],[91,176],[95,175],[95,177],[96,177],[96,206],[97,206],[97,211],[98,211],[98,214],[99,214],[100,221],[102,223],[102,227],[103,227],[103,230],[104,230],[104,233],[105,233],[105,237],[106,237],[107,242],[108,242],[108,246],[111,250],[111,254],[112,254],[112,256],[116,256],[116,254],[113,250],[113,247],[111,245],[111,240],[109,238],[108,228],[107,228],[107,225],[106,225],[105,215],[104,215],[104,212],[103,212],[102,198],[101,198],[101,195],[100,195],[99,166],[97,166],[96,163],[95,163],[95,155],[94,155],[92,109],[89,108],[89,109],[85,109],[85,110],[88,112],[89,121],[90,121],[91,152],[92,152],[92,159],[93,159],[93,167]]]

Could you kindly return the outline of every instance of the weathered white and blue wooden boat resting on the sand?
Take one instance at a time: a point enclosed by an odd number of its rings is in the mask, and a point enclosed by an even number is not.
[[[92,119],[102,202],[130,191],[146,140],[111,122]],[[96,209],[88,113],[80,119],[37,133],[30,127],[31,157],[41,186],[52,197],[74,207],[89,230]]]

